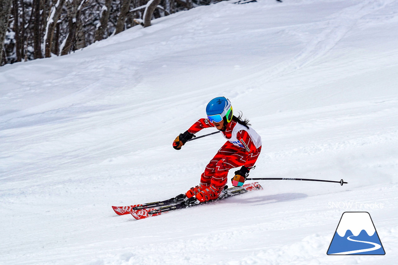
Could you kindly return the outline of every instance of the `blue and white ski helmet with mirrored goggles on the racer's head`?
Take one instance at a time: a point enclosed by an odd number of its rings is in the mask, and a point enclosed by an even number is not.
[[[219,123],[224,117],[226,122],[230,123],[233,115],[232,104],[228,98],[213,98],[206,106],[206,114],[211,123]]]

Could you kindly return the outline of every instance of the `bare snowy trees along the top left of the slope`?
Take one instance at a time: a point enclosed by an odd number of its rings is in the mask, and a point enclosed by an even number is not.
[[[2,0],[0,65],[70,54],[150,20],[213,0]]]

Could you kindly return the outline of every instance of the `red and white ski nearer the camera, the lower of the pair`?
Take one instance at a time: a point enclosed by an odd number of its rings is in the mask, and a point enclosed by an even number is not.
[[[148,217],[152,217],[152,216],[156,216],[156,215],[160,215],[162,213],[168,213],[170,211],[175,211],[178,209],[184,209],[187,207],[191,207],[191,206],[195,206],[195,205],[202,205],[202,204],[207,204],[209,202],[216,202],[219,200],[224,200],[225,198],[231,197],[231,196],[235,196],[238,194],[243,194],[252,190],[262,190],[263,188],[261,187],[260,184],[258,184],[258,182],[254,182],[254,183],[250,183],[250,184],[245,184],[241,187],[232,187],[232,188],[228,188],[224,191],[224,194],[220,197],[217,198],[216,200],[211,200],[208,202],[198,202],[196,200],[195,197],[189,198],[188,200],[184,200],[181,202],[177,202],[171,205],[165,205],[162,207],[147,207],[146,209],[132,209],[130,211],[131,215],[139,220],[139,219],[145,219]]]

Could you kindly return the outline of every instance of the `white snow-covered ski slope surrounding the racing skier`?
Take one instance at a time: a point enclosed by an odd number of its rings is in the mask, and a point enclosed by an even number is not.
[[[396,264],[397,23],[393,0],[226,1],[1,67],[0,264]],[[116,216],[198,184],[224,139],[171,144],[216,96],[262,137],[250,177],[349,183]],[[344,211],[386,255],[326,255]]]

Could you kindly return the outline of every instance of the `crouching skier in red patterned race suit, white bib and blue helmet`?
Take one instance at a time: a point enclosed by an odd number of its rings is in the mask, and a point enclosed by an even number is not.
[[[185,193],[187,198],[196,196],[200,202],[219,197],[232,168],[242,166],[231,179],[233,186],[242,186],[261,152],[261,137],[249,127],[248,119],[240,119],[242,114],[239,117],[233,115],[231,102],[227,98],[213,98],[207,104],[206,114],[207,119],[199,119],[173,142],[174,149],[180,150],[187,140],[195,137],[196,132],[210,127],[221,131],[227,140],[206,166],[200,184]]]

